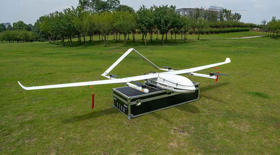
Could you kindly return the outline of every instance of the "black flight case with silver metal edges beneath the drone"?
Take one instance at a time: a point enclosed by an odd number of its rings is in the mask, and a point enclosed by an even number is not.
[[[194,93],[180,94],[159,88],[144,93],[129,86],[113,88],[113,107],[128,119],[199,100],[199,82]]]

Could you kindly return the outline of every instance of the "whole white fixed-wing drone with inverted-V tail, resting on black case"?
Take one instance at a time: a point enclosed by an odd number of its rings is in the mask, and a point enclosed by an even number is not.
[[[162,73],[156,73],[151,72],[144,75],[134,76],[134,77],[127,77],[127,78],[114,78],[118,77],[114,74],[109,74],[114,67],[116,67],[117,64],[119,64],[131,51],[134,51],[137,53],[141,58],[146,60],[148,63],[150,63],[155,69],[164,70],[166,72]],[[57,85],[46,85],[46,86],[32,86],[32,87],[26,87],[23,86],[19,81],[18,84],[25,90],[35,90],[35,89],[48,89],[48,88],[62,88],[62,87],[73,87],[73,86],[90,86],[90,85],[101,85],[101,84],[110,84],[110,83],[126,83],[127,86],[132,87],[138,91],[142,91],[144,93],[149,93],[148,87],[156,86],[161,89],[177,92],[177,93],[192,93],[195,91],[195,86],[191,80],[184,76],[180,76],[178,74],[187,74],[192,76],[198,76],[203,78],[211,78],[216,79],[216,82],[218,80],[219,75],[227,75],[227,74],[221,74],[221,73],[209,73],[207,74],[200,74],[200,73],[194,73],[196,71],[200,71],[207,68],[213,68],[218,65],[227,64],[230,63],[230,58],[226,58],[224,62],[216,63],[216,64],[208,64],[200,67],[194,67],[189,69],[182,69],[182,70],[173,70],[171,67],[162,66],[166,69],[161,69],[157,67],[155,64],[153,64],[150,60],[145,58],[142,54],[140,54],[138,51],[136,51],[133,48],[128,49],[114,64],[112,64],[101,76],[104,76],[105,78],[108,78],[109,80],[99,80],[99,81],[89,81],[89,82],[76,82],[76,83],[66,83],[66,84],[57,84]],[[218,68],[215,68],[218,69]],[[202,72],[202,71],[201,71]],[[208,72],[204,72],[208,73]],[[109,74],[109,76],[107,76]],[[142,84],[140,82],[136,82],[138,80],[145,80],[145,84]],[[129,83],[133,82],[136,85]]]

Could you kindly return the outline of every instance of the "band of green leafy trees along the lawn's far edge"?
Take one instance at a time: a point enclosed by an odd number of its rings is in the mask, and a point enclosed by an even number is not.
[[[56,44],[58,40],[61,40],[63,46],[65,46],[65,39],[68,39],[72,46],[72,38],[78,38],[80,44],[83,42],[87,46],[86,37],[89,36],[93,44],[94,36],[97,36],[99,42],[104,41],[106,46],[109,43],[110,34],[114,35],[113,40],[116,42],[118,42],[118,36],[120,40],[120,35],[124,35],[124,45],[126,45],[130,34],[134,42],[135,34],[141,33],[142,42],[146,45],[147,35],[151,42],[153,42],[153,35],[156,35],[156,38],[161,35],[163,44],[164,35],[167,40],[168,33],[175,34],[176,42],[177,34],[181,34],[181,39],[184,35],[185,41],[187,34],[192,33],[197,33],[199,39],[200,34],[204,33],[238,32],[245,30],[241,28],[248,30],[248,28],[262,28],[263,26],[240,22],[240,14],[231,13],[226,9],[222,10],[218,16],[217,11],[195,8],[188,16],[182,16],[175,11],[175,8],[172,5],[154,5],[150,8],[141,6],[138,11],[134,11],[132,7],[120,5],[119,0],[79,0],[77,7],[43,15],[33,26],[19,21],[14,23],[12,29],[9,30],[31,29],[35,35],[33,39],[48,40]]]

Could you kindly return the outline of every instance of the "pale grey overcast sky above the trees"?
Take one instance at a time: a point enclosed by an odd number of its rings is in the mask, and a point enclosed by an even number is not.
[[[231,10],[245,9],[239,11],[242,15],[241,21],[260,24],[265,19],[269,21],[272,16],[280,18],[280,0],[120,0],[121,4],[138,10],[141,5],[150,7],[153,4],[175,5],[176,8],[195,8],[217,6]],[[50,12],[61,11],[67,7],[76,7],[78,0],[0,0],[0,23],[13,23],[18,20],[26,24],[34,24],[36,20]]]

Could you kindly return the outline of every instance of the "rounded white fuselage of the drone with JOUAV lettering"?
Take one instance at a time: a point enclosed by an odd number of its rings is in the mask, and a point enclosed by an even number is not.
[[[158,78],[147,79],[146,84],[176,93],[192,93],[196,89],[188,78],[168,73],[159,73]]]

